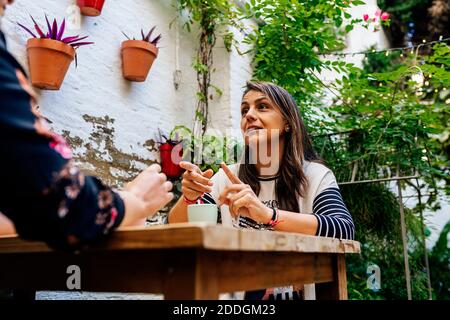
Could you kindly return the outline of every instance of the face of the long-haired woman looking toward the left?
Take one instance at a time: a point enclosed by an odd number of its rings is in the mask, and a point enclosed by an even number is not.
[[[278,106],[259,91],[249,91],[241,103],[241,130],[245,143],[271,142],[283,139],[286,121]]]

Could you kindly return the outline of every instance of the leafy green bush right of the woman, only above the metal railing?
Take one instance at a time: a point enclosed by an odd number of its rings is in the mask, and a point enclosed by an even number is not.
[[[339,118],[335,131],[354,130],[360,137],[358,148],[350,150],[353,159],[383,162],[391,172],[397,164],[401,172],[416,168],[433,194],[430,207],[436,204],[437,181],[448,181],[450,174],[448,56],[446,44],[417,58],[369,55],[367,71],[353,69],[337,81],[340,97],[328,109],[331,118]],[[382,72],[368,72],[376,69]],[[450,194],[448,183],[443,189]]]

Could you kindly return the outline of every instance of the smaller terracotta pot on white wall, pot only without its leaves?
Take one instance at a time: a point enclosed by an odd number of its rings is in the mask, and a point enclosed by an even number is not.
[[[130,81],[143,82],[147,79],[158,48],[142,40],[122,42],[123,77]]]

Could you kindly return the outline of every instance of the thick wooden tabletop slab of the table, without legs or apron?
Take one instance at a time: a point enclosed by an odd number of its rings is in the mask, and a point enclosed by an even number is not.
[[[130,236],[130,233],[133,233]],[[288,232],[239,230],[204,223],[179,223],[116,230],[108,239],[91,245],[85,252],[105,250],[150,250],[198,248],[205,250],[279,251],[307,253],[360,253],[353,240],[315,237]],[[0,236],[0,255],[5,253],[53,252],[42,241]]]

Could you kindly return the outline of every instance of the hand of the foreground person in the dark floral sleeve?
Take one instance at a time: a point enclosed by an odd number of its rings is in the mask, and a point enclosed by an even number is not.
[[[172,183],[157,164],[142,171],[120,191],[125,202],[122,226],[138,225],[173,199]]]

